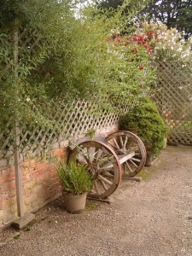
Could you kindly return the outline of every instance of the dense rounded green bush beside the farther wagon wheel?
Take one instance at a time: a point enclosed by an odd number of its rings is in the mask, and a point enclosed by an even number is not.
[[[156,105],[148,97],[142,98],[135,108],[125,114],[119,127],[121,130],[136,133],[142,139],[147,150],[146,166],[150,166],[153,160],[160,155],[169,130]]]

